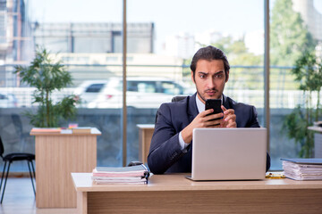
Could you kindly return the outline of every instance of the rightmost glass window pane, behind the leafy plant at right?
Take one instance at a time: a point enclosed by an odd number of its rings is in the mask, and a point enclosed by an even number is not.
[[[321,1],[275,0],[270,8],[270,151],[272,169],[282,169],[280,158],[297,158],[305,153],[309,136],[305,123],[309,93],[300,89],[305,81],[293,74],[297,60],[306,52],[320,57],[322,39]],[[317,101],[313,92],[312,101]],[[316,102],[315,102],[316,103]],[[301,111],[294,111],[297,106]],[[294,112],[294,114],[292,114]],[[290,118],[289,115],[295,116]],[[288,119],[287,119],[288,118]],[[293,126],[297,127],[294,128]],[[291,132],[290,132],[290,131]],[[299,136],[300,142],[294,138]],[[303,150],[302,150],[303,149]]]

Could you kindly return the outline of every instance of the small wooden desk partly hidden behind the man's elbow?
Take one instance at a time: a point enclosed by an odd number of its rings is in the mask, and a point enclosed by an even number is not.
[[[154,132],[154,124],[138,124],[139,128],[139,160],[148,162],[149,145]]]

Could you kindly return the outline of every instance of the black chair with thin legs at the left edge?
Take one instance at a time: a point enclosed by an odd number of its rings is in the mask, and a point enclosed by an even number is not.
[[[35,168],[34,168],[33,163],[32,163],[32,161],[35,161],[35,155],[31,154],[31,153],[21,153],[21,152],[20,153],[8,153],[5,156],[3,156],[3,154],[4,154],[4,144],[3,144],[1,136],[0,136],[0,157],[4,161],[4,170],[3,170],[3,175],[1,177],[1,183],[0,183],[0,193],[1,193],[1,187],[2,187],[3,181],[4,181],[4,190],[5,190],[5,185],[6,185],[6,181],[7,181],[7,178],[8,178],[10,165],[12,164],[12,162],[13,161],[27,161],[28,168],[30,170],[30,179],[31,179],[32,188],[33,188],[33,191],[34,191],[34,193],[36,195],[35,185],[33,183],[31,169],[30,169],[30,165],[31,165],[31,168],[32,168],[32,171],[33,171],[33,177],[36,179]],[[5,180],[4,180],[4,171],[5,171],[5,167],[6,167],[7,162],[9,162],[9,165],[8,165],[8,169],[6,171],[6,176],[5,176]],[[4,200],[4,190],[3,190],[3,193],[2,193],[2,196],[1,196],[1,202],[0,203],[2,203],[3,200]]]

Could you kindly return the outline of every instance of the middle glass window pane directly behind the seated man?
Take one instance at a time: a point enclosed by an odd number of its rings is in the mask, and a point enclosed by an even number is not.
[[[139,157],[138,124],[154,124],[161,103],[176,95],[196,92],[191,80],[190,63],[202,46],[215,45],[227,55],[231,64],[225,95],[237,102],[255,105],[263,123],[263,1],[128,1],[128,23],[150,25],[144,47],[131,52],[128,37],[128,77],[155,84],[155,91],[128,95],[128,161]],[[139,28],[139,27],[138,27]],[[148,36],[149,35],[149,36]],[[138,43],[137,38],[135,43]],[[141,150],[140,150],[141,151]]]

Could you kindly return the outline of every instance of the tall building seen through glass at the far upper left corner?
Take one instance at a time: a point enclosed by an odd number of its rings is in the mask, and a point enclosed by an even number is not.
[[[30,60],[30,22],[28,1],[0,1],[0,86],[16,86],[19,79],[13,75],[15,64]]]

